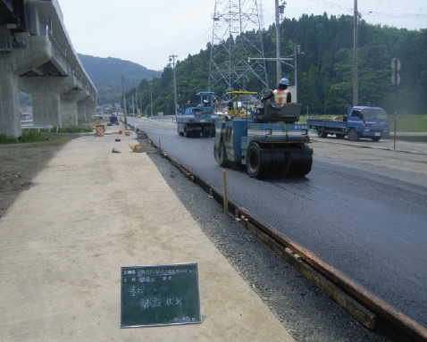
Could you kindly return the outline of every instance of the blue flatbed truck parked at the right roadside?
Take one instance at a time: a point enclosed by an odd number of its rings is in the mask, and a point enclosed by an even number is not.
[[[379,107],[354,106],[348,109],[347,115],[334,120],[307,121],[309,129],[315,129],[319,138],[326,138],[328,134],[336,138],[347,138],[356,141],[359,138],[370,138],[380,141],[389,137],[389,115]]]

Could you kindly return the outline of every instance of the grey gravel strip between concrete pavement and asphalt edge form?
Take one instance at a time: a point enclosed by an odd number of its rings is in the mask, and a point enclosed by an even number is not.
[[[205,234],[301,342],[386,342],[265,246],[154,147],[148,153]]]

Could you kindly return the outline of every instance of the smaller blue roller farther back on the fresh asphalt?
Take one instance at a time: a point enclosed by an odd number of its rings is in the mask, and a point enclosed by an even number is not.
[[[180,136],[213,137],[218,115],[214,113],[212,91],[200,91],[200,104],[183,104],[180,113],[177,113],[177,131]]]

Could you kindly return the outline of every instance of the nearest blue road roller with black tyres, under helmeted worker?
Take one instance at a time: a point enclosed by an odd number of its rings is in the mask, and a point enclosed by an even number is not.
[[[219,166],[245,164],[249,176],[256,179],[304,177],[311,171],[308,128],[297,123],[301,104],[242,104],[242,95],[255,93],[228,94],[237,96],[229,111],[246,115],[230,115],[217,123],[213,156]]]

